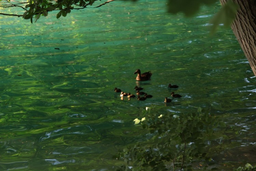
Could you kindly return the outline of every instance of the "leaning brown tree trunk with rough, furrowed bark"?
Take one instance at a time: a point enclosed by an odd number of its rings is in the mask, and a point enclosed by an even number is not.
[[[220,0],[224,5],[228,0]],[[235,36],[242,47],[246,58],[256,76],[256,1],[233,0],[240,9],[231,24]]]

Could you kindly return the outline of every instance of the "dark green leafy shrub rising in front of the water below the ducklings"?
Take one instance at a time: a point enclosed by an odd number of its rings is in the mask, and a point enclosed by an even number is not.
[[[142,127],[153,138],[149,142],[123,149],[119,158],[124,159],[127,166],[121,170],[131,167],[134,170],[192,170],[191,163],[195,158],[209,163],[211,159],[207,154],[206,142],[216,139],[215,128],[225,127],[225,123],[204,114],[201,108],[196,113],[179,115],[159,116],[156,112],[143,120]]]

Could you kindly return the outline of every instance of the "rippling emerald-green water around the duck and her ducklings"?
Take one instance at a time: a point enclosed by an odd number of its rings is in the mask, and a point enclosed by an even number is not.
[[[115,170],[118,149],[150,138],[132,121],[152,105],[221,116],[226,137],[212,142],[221,152],[213,159],[225,170],[256,164],[256,81],[230,29],[209,35],[219,8],[184,18],[167,15],[165,1],[143,0],[34,24],[0,16],[0,170]],[[136,69],[152,71],[151,81],[136,82]],[[170,83],[183,97],[165,105]],[[121,100],[113,91],[136,85],[154,97]]]

